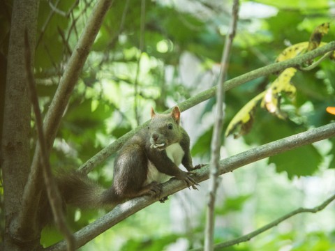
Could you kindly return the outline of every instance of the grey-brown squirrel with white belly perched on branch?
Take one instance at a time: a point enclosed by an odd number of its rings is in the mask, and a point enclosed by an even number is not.
[[[190,138],[180,126],[180,110],[173,107],[170,114],[156,114],[151,107],[147,128],[135,133],[121,147],[114,160],[114,176],[108,189],[91,181],[79,172],[61,172],[57,185],[65,204],[80,208],[114,207],[128,199],[149,195],[159,197],[161,185],[175,177],[197,189],[191,177],[193,167]],[[188,172],[179,169],[182,164]],[[165,201],[167,197],[161,199]]]

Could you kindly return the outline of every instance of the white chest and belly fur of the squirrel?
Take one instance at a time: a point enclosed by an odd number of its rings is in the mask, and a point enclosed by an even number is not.
[[[181,160],[184,157],[184,150],[181,148],[179,143],[174,143],[168,146],[166,149],[166,154],[177,165],[177,167],[181,164]],[[168,174],[163,174],[158,171],[155,165],[150,162],[148,163],[148,174],[147,174],[147,181],[145,184],[149,184],[152,181],[157,181],[158,183],[163,183],[168,181],[171,178]]]

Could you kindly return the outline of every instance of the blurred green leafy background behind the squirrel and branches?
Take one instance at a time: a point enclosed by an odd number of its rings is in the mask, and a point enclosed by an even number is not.
[[[141,3],[145,5],[141,7]],[[95,1],[40,1],[35,77],[40,107],[47,111],[66,62]],[[8,47],[11,1],[0,10],[0,50]],[[158,112],[216,85],[232,1],[114,1],[89,54],[54,143],[52,167],[78,167],[124,133]],[[266,66],[285,47],[308,41],[315,26],[330,22],[324,42],[334,40],[335,1],[240,1],[237,36],[228,79]],[[142,28],[141,28],[142,24]],[[139,63],[140,62],[140,63]],[[223,138],[225,158],[253,146],[322,126],[334,120],[334,62],[323,61],[292,79],[297,96],[283,96],[287,119],[258,107],[251,132]],[[225,128],[243,105],[263,91],[275,75],[261,77],[226,93]],[[181,115],[191,137],[195,164],[209,161],[215,99]],[[34,120],[31,121],[32,128]],[[224,129],[225,129],[224,128]],[[36,141],[31,130],[32,145]],[[228,241],[266,225],[300,206],[321,204],[335,191],[334,139],[276,155],[225,174],[218,191],[216,242]],[[32,147],[34,149],[34,147]],[[91,172],[107,187],[113,158]],[[204,238],[207,183],[154,204],[98,236],[80,250],[187,250]],[[69,208],[73,231],[104,211]],[[225,250],[335,250],[334,204],[301,214]],[[52,227],[43,243],[61,239]]]

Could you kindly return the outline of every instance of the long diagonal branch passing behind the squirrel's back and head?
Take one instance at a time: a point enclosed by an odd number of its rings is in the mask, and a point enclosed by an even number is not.
[[[234,87],[237,87],[253,79],[257,79],[258,77],[277,73],[281,70],[284,70],[285,68],[299,67],[304,62],[311,61],[312,59],[315,59],[317,56],[321,56],[333,50],[335,50],[335,41],[332,41],[328,43],[327,45],[319,47],[311,52],[307,52],[306,54],[297,56],[293,59],[288,59],[288,60],[281,61],[278,63],[273,63],[269,66],[258,68],[257,70],[252,70],[249,73],[245,73],[244,75],[241,75],[239,77],[234,77],[233,79],[226,81],[225,91],[229,91],[230,89]],[[188,98],[188,100],[185,100],[184,102],[179,103],[178,106],[181,109],[181,112],[186,111],[187,109],[190,109],[191,107],[194,107],[195,105],[198,105],[200,104],[200,102],[204,102],[205,100],[208,100],[209,98],[213,98],[216,94],[216,89],[217,89],[217,86],[214,86],[211,89],[202,91],[198,93],[197,95],[191,98]],[[101,162],[103,162],[108,157],[110,157],[113,153],[119,150],[120,147],[124,144],[124,142],[126,142],[127,139],[135,135],[135,132],[147,126],[147,123],[149,123],[149,121],[144,123],[142,126],[139,126],[135,128],[134,130],[131,130],[130,132],[126,133],[124,136],[119,137],[119,139],[115,140],[112,144],[110,144],[109,146],[106,146],[103,150],[96,153],[96,155],[94,155],[92,158],[87,160],[87,162],[85,162],[83,165],[80,166],[80,170],[85,174],[88,174],[89,172],[91,172],[91,170],[94,169],[94,167],[99,165]]]

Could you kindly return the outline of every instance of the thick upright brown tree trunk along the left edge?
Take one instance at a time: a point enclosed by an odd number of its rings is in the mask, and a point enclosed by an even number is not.
[[[37,0],[13,2],[1,140],[6,220],[3,250],[33,250],[39,245],[36,229],[20,231],[20,226],[15,224],[30,167],[31,103],[24,69],[24,30],[29,33],[29,44],[33,45],[31,54],[34,55],[37,15]]]

